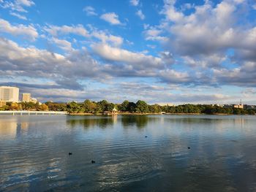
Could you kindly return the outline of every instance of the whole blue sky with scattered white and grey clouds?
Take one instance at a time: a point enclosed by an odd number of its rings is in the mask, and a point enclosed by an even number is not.
[[[256,1],[0,0],[0,85],[39,101],[256,104]]]

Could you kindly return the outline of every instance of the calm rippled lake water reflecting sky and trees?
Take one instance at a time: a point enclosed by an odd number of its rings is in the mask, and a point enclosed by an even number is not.
[[[256,117],[0,116],[0,191],[256,191]]]

